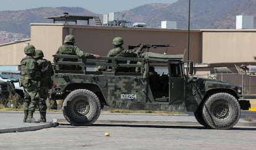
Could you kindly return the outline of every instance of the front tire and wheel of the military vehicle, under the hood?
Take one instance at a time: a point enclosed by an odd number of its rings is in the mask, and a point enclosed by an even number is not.
[[[202,117],[211,128],[232,128],[240,119],[239,102],[229,93],[211,95],[203,104]]]

